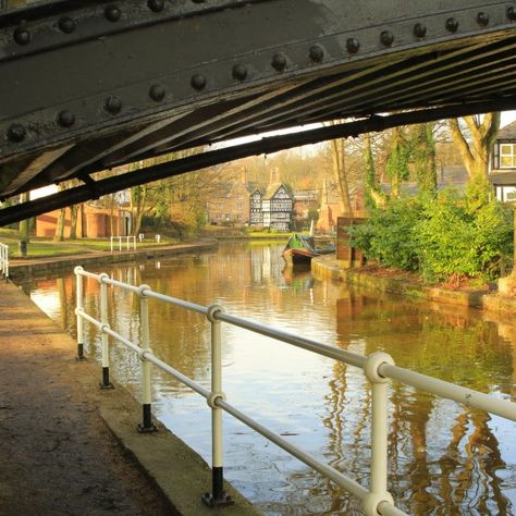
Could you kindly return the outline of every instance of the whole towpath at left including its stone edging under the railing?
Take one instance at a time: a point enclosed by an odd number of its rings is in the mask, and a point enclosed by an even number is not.
[[[0,335],[0,514],[213,514],[206,462],[158,421],[139,434],[140,405],[100,390],[96,360],[75,360],[72,337],[7,282]],[[260,514],[225,488],[224,514]]]

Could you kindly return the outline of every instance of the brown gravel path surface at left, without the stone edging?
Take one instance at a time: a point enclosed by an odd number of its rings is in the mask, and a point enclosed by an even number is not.
[[[0,283],[0,514],[171,514],[100,419],[94,364],[74,353],[72,339]]]

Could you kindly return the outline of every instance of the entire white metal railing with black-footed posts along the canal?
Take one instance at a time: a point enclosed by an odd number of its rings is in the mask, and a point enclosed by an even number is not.
[[[75,268],[76,274],[76,309],[77,316],[77,354],[83,356],[84,329],[83,321],[88,321],[101,332],[102,335],[102,382],[105,389],[111,388],[109,381],[109,343],[111,336],[124,346],[135,352],[142,360],[143,374],[143,422],[138,426],[140,432],[153,431],[151,422],[151,378],[150,365],[159,367],[174,377],[186,386],[204,396],[211,408],[212,431],[212,493],[204,496],[205,502],[210,505],[225,505],[232,503],[223,491],[223,454],[222,454],[222,410],[247,425],[251,429],[269,439],[306,465],[312,467],[341,488],[358,496],[364,503],[367,515],[404,515],[394,506],[393,499],[388,491],[388,385],[391,379],[397,380],[416,389],[437,394],[438,396],[454,400],[470,407],[480,408],[500,417],[516,421],[516,404],[483,394],[470,389],[455,385],[443,380],[438,380],[425,374],[404,369],[394,365],[392,357],[385,353],[372,353],[365,357],[355,353],[346,352],[319,342],[305,339],[292,333],[266,327],[255,321],[242,319],[226,314],[219,305],[201,306],[175,297],[170,297],[153,292],[148,285],[131,285],[109,278],[107,273],[94,274],[85,271],[82,267]],[[83,305],[83,278],[96,280],[100,284],[100,321],[84,311]],[[107,285],[130,291],[139,296],[140,299],[140,345],[125,339],[120,333],[111,330],[108,321],[108,295]],[[184,376],[172,366],[156,357],[149,347],[149,321],[148,300],[158,299],[163,303],[195,311],[207,317],[211,324],[211,390],[199,385],[191,378]],[[221,365],[221,322],[244,328],[255,333],[267,335],[277,341],[307,349],[344,364],[359,367],[364,370],[367,379],[372,384],[372,409],[371,409],[371,465],[369,489],[336,470],[335,468],[320,462],[299,447],[293,445],[278,433],[263,427],[256,420],[243,414],[226,402],[222,391],[222,365]]]

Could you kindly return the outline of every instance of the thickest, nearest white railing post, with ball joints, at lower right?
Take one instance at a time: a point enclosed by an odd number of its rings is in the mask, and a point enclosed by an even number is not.
[[[364,371],[372,383],[371,409],[371,482],[369,493],[364,501],[364,509],[368,516],[381,514],[383,503],[394,505],[388,491],[388,386],[389,379],[379,373],[382,364],[394,365],[391,355],[372,353],[367,357]]]

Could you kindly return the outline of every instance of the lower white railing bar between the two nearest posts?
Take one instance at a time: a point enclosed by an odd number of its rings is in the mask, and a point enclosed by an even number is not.
[[[327,464],[321,463],[312,455],[304,452],[303,450],[299,450],[297,446],[290,443],[288,441],[283,439],[281,435],[278,435],[278,433],[272,432],[271,430],[267,429],[266,427],[255,421],[250,417],[241,413],[233,405],[230,405],[228,402],[224,402],[221,398],[216,400],[216,405],[222,408],[223,410],[225,410],[228,414],[231,414],[234,418],[238,419],[247,427],[256,430],[258,433],[260,433],[261,435],[267,438],[269,441],[273,442],[281,449],[283,449],[285,452],[288,452],[291,455],[298,458],[302,463],[310,466],[311,468],[316,469],[317,471],[324,475],[329,479],[333,480],[341,488],[355,494],[360,500],[365,500],[365,497],[367,496],[368,490],[366,488],[363,488],[358,482],[346,477],[345,475],[332,468],[331,466],[328,466]]]

